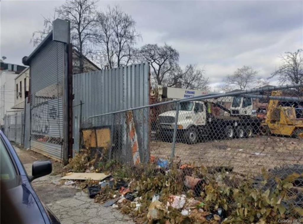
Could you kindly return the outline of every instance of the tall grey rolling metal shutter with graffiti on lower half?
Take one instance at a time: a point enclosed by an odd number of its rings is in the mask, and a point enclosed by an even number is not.
[[[49,41],[31,61],[31,149],[62,160],[64,43]]]

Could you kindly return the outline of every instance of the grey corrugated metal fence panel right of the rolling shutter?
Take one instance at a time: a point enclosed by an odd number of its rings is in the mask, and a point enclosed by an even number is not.
[[[127,139],[122,139],[127,127],[131,122],[127,115],[108,115],[88,119],[89,116],[104,114],[107,112],[129,109],[149,104],[149,65],[148,63],[129,65],[115,69],[108,69],[96,72],[88,72],[73,75],[73,153],[81,148],[81,130],[88,128],[108,127],[111,136],[119,135],[121,144],[111,145],[120,157],[131,157],[132,153],[127,152],[129,144]],[[137,131],[138,145],[141,161],[149,159],[149,138],[148,124],[149,109],[139,114],[133,113]],[[83,142],[82,142],[83,143]],[[118,146],[119,145],[119,146]],[[128,158],[128,160],[131,158]]]

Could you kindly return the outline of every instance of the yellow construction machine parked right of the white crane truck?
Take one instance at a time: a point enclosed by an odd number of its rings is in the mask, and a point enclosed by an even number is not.
[[[282,96],[281,91],[271,92],[272,96]],[[303,108],[283,105],[281,101],[270,99],[265,120],[261,123],[261,134],[286,135],[303,139]]]

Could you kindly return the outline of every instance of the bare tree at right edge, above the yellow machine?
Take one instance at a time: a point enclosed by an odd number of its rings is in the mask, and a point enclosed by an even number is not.
[[[278,77],[281,85],[285,83],[300,84],[303,83],[303,49],[296,52],[285,52],[281,55],[281,66],[271,73],[270,79]]]

